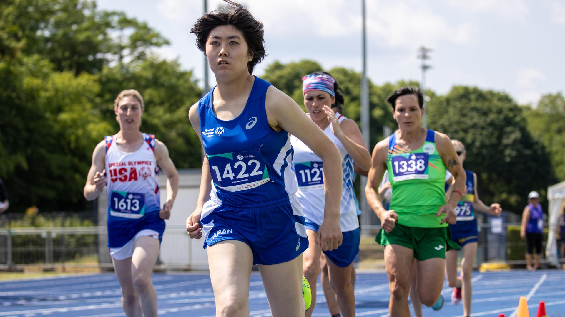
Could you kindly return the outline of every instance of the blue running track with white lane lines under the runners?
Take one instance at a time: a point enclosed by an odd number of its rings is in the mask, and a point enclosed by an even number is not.
[[[1,274],[1,273],[0,273]],[[214,294],[206,273],[154,274],[159,315],[214,317]],[[473,272],[472,316],[515,316],[520,296],[528,297],[529,314],[536,316],[545,301],[548,316],[565,316],[565,273],[560,270],[528,272]],[[251,274],[251,316],[271,316],[261,277]],[[321,296],[313,316],[329,316]],[[461,316],[463,307],[451,305],[451,289],[444,286],[445,306],[424,307],[424,316]],[[357,316],[388,315],[388,280],[384,272],[360,271],[355,286]],[[125,316],[120,287],[114,274],[68,275],[56,278],[0,282],[2,316]]]

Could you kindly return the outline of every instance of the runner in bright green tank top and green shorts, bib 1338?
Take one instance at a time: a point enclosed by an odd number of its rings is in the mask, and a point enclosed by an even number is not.
[[[402,87],[387,102],[392,105],[398,130],[373,149],[365,193],[381,220],[376,237],[385,246],[386,274],[390,286],[390,316],[410,316],[410,268],[418,260],[416,293],[426,306],[440,297],[444,284],[446,249],[451,241],[448,223],[455,223],[454,209],[465,188],[466,174],[447,135],[420,126],[424,113],[420,90]],[[455,178],[445,202],[445,170]],[[392,184],[390,209],[385,210],[375,190],[388,169]]]

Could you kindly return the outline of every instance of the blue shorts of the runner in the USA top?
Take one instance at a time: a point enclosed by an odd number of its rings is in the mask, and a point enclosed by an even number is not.
[[[159,210],[144,214],[140,219],[115,217],[108,214],[108,248],[121,248],[131,241],[138,232],[149,229],[159,234],[159,243],[163,239],[165,221],[159,218]]]

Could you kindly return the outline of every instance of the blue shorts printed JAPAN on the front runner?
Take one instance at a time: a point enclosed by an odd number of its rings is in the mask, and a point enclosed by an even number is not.
[[[220,241],[249,245],[253,264],[290,261],[308,248],[302,206],[295,195],[254,204],[232,204],[211,198],[202,208],[204,248]]]

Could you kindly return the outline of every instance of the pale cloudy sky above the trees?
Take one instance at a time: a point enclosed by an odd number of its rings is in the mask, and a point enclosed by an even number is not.
[[[433,49],[427,86],[506,91],[521,104],[565,91],[565,0],[366,0],[367,67],[374,83],[420,80],[418,47]],[[208,0],[208,9],[221,0]],[[360,0],[242,0],[265,25],[267,58],[318,61],[324,68],[361,71]],[[97,0],[125,11],[171,41],[159,49],[203,78],[203,55],[190,27],[201,0]],[[211,74],[210,84],[214,85]]]

